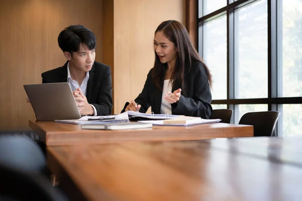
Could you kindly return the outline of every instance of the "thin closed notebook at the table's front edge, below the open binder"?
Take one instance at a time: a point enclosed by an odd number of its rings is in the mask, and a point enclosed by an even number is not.
[[[99,130],[124,130],[124,129],[145,129],[151,128],[151,123],[110,123],[110,124],[85,124],[82,129],[99,129]]]

